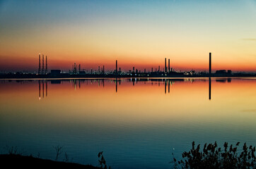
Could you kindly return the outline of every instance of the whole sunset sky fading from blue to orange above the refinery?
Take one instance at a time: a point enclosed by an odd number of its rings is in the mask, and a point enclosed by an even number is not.
[[[0,71],[164,66],[256,72],[256,0],[0,1]]]

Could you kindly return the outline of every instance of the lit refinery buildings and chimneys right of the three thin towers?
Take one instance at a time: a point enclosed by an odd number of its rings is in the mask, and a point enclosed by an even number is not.
[[[209,72],[201,72],[195,73],[194,70],[190,71],[175,71],[174,68],[170,67],[170,58],[168,58],[168,65],[167,65],[167,58],[165,58],[164,68],[161,69],[161,65],[158,65],[158,68],[151,68],[151,70],[139,70],[132,67],[132,70],[127,72],[122,71],[122,68],[118,67],[118,61],[115,61],[115,70],[108,70],[105,71],[105,65],[100,68],[98,66],[98,70],[93,68],[91,69],[83,69],[81,64],[77,64],[76,62],[72,65],[72,69],[69,70],[69,73],[63,73],[61,70],[51,70],[50,75],[53,77],[57,76],[66,76],[66,77],[211,77],[217,75],[225,75],[231,76],[231,70],[226,71],[223,73],[223,70],[217,70],[216,73],[211,73],[211,53],[209,53]]]

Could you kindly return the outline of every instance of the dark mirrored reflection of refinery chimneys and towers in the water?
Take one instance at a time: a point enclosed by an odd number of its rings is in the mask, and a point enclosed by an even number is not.
[[[55,84],[71,84],[74,90],[81,89],[81,87],[89,87],[89,85],[95,85],[98,87],[105,87],[105,84],[108,86],[115,86],[115,90],[113,92],[118,92],[118,87],[122,84],[136,86],[137,84],[151,84],[151,86],[155,85],[158,87],[163,86],[164,94],[170,94],[170,89],[176,82],[190,82],[193,83],[195,81],[200,82],[209,82],[209,100],[211,100],[211,77],[208,79],[168,79],[168,78],[161,78],[161,79],[150,79],[150,78],[113,78],[113,79],[66,79],[66,80],[37,80],[38,83],[38,90],[39,90],[39,100],[47,97],[47,87],[48,82],[51,85]],[[215,79],[216,82],[231,82],[231,79]],[[168,92],[167,92],[168,91]]]

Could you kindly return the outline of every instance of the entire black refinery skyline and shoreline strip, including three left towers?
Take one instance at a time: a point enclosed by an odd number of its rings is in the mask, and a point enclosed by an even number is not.
[[[41,57],[42,56],[42,57]],[[151,70],[138,70],[132,67],[132,70],[124,72],[118,68],[117,60],[115,61],[115,70],[105,71],[105,66],[98,70],[81,69],[81,64],[74,63],[69,73],[64,73],[59,69],[52,69],[48,71],[47,56],[39,54],[38,56],[38,70],[37,73],[1,73],[0,78],[83,78],[83,77],[255,77],[255,73],[232,73],[231,70],[216,70],[211,72],[211,53],[209,53],[209,71],[196,73],[194,70],[190,71],[175,71],[170,67],[170,58],[168,58],[168,66],[165,58],[164,68],[161,70],[161,65],[158,68],[151,68]],[[42,58],[42,65],[41,65]]]

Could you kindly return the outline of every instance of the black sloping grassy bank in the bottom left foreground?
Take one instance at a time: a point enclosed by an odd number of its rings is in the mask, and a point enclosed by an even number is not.
[[[1,168],[78,168],[78,169],[98,169],[93,165],[81,165],[78,163],[66,163],[61,161],[51,161],[33,156],[21,156],[16,154],[1,154]]]

